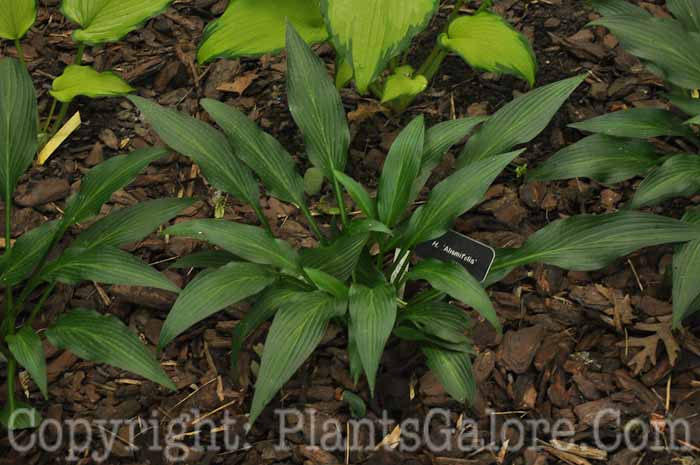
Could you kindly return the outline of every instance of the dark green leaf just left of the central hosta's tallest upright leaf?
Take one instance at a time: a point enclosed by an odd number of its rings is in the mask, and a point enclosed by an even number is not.
[[[201,103],[228,136],[236,156],[260,176],[272,195],[304,205],[304,180],[297,173],[292,156],[277,139],[225,103],[211,99],[203,99]]]

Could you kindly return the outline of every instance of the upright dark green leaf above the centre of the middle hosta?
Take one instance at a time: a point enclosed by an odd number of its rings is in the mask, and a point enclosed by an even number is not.
[[[377,211],[379,219],[391,227],[406,212],[413,183],[420,173],[425,125],[416,117],[401,131],[389,150],[379,179]]]

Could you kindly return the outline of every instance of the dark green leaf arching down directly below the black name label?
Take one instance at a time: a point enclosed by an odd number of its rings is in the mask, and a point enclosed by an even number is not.
[[[501,330],[501,323],[488,294],[481,284],[457,263],[424,260],[408,273],[408,279],[428,281],[438,291],[474,308],[494,328]]]

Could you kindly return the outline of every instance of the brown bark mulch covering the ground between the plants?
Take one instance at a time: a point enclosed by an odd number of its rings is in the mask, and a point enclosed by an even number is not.
[[[219,61],[205,67],[194,64],[204,25],[221,14],[225,4],[226,0],[178,0],[166,13],[122,42],[88,50],[84,62],[100,70],[114,69],[140,95],[205,120],[207,116],[198,104],[200,98],[206,96],[235,105],[278,137],[303,169],[307,162],[302,140],[286,106],[283,55]],[[590,73],[547,130],[516,160],[517,165],[535,166],[581,138],[578,131],[567,128],[574,121],[625,106],[667,107],[657,78],[625,53],[605,30],[585,27],[594,14],[583,0],[497,0],[495,5],[533,42],[540,66],[537,86],[584,71]],[[663,14],[658,5],[645,5]],[[469,2],[468,6],[473,10],[478,4]],[[432,47],[450,10],[451,2],[447,2],[430,29],[416,39],[412,61],[419,62]],[[49,103],[47,90],[52,77],[73,60],[71,30],[72,26],[58,11],[57,1],[47,0],[41,2],[38,21],[23,41],[43,114]],[[318,51],[332,66],[330,48],[322,46]],[[16,56],[16,50],[9,43],[2,43],[2,56]],[[222,88],[225,90],[219,90]],[[433,124],[492,113],[527,90],[522,81],[475,72],[457,57],[445,61],[428,91],[400,116],[380,111],[372,99],[346,89],[342,96],[353,135],[349,172],[373,189],[388,146],[415,115],[424,114]],[[76,110],[82,115],[80,129],[44,166],[32,168],[21,180],[12,224],[15,237],[60,215],[81,175],[92,166],[120,151],[159,142],[124,99],[79,99],[72,106],[72,111]],[[674,142],[659,143],[672,146]],[[447,157],[431,184],[449,172],[456,154]],[[527,185],[514,169],[507,170],[489,190],[487,199],[460,218],[455,229],[494,247],[519,246],[532,232],[555,219],[615,211],[630,198],[635,183],[638,181],[608,187],[580,179]],[[186,158],[171,155],[149,167],[134,184],[115,193],[103,213],[146,199],[178,195],[200,199],[185,216],[212,216],[213,192]],[[696,203],[700,203],[700,197],[669,201],[654,208],[654,212],[677,218],[684,207]],[[324,192],[314,200],[313,209],[323,212],[331,204],[331,197]],[[294,207],[274,198],[264,198],[263,207],[281,237],[297,246],[314,243],[303,216]],[[227,200],[225,217],[255,222],[249,207],[231,199]],[[76,228],[72,233],[78,231]],[[175,258],[197,246],[187,239],[166,240],[152,235],[130,250],[165,270]],[[189,463],[690,465],[698,463],[700,452],[700,339],[694,335],[700,334],[700,319],[690,319],[681,331],[670,333],[665,329],[671,315],[671,254],[670,246],[646,249],[590,273],[535,266],[517,270],[490,288],[504,334],[496,334],[487,323],[475,318],[478,393],[471,406],[451,401],[427,372],[415,349],[397,342],[387,348],[377,393],[372,399],[364,381],[357,389],[353,386],[345,352],[347,341],[339,328],[331,328],[310,361],[248,433],[249,444],[238,450],[200,452],[195,447],[197,440],[203,444],[220,444],[223,440],[216,429],[199,428],[206,423],[201,420],[212,420],[218,426],[227,414],[244,422],[250,406],[258,353],[269,326],[248,339],[239,369],[232,371],[230,332],[248,309],[246,305],[209,318],[164,351],[161,360],[175,380],[177,392],[167,392],[108,366],[80,361],[49,345],[45,347],[49,399],[43,400],[31,382],[23,388],[46,418],[134,420],[138,424],[134,444],[125,439],[127,426],[105,435],[116,439],[113,454],[106,461],[110,464],[169,463],[163,454],[148,452],[146,445],[154,440],[165,443],[168,432],[157,426],[194,410],[198,413],[175,432],[180,434],[175,439],[182,445],[178,452]],[[166,273],[180,285],[191,279],[191,273]],[[70,307],[95,308],[118,316],[142,336],[145,344],[155,347],[173,300],[173,295],[165,292],[130,286],[59,286],[35,325],[37,329],[45,327]],[[412,453],[364,450],[353,451],[347,457],[342,452],[324,452],[314,447],[319,445],[323,421],[335,420],[336,427],[344,430],[351,418],[348,404],[341,400],[344,390],[357,392],[367,402],[367,416],[372,419],[381,418],[382,411],[387,411],[390,418],[401,422],[423,418],[433,408],[449,409],[453,427],[464,424],[465,418],[473,418],[476,423],[472,427],[478,436],[487,443],[496,441],[497,446],[470,452],[436,452],[427,448]],[[0,399],[4,395],[3,386]],[[306,409],[304,427],[286,436],[290,448],[285,450],[275,448],[280,437],[280,418],[273,415],[273,409],[278,407]],[[690,422],[690,441],[682,451],[673,450],[668,443],[636,451],[622,446],[611,447],[607,453],[597,449],[567,451],[552,440],[550,433],[540,431],[537,450],[509,450],[503,446],[505,440],[512,445],[523,434],[533,434],[533,430],[523,432],[509,427],[508,420],[513,419],[568,420],[573,430],[567,440],[592,446],[593,418],[605,408],[623,412],[620,421],[606,423],[603,435],[607,442],[621,433],[641,439],[640,425],[648,431],[661,430],[663,421],[672,418]],[[628,421],[635,418],[640,422],[631,426]],[[439,429],[444,423],[444,418],[435,419],[431,423],[432,434],[447,434],[443,437],[454,441],[454,432]],[[502,431],[503,437],[493,437],[491,423],[497,425],[496,431]],[[313,427],[319,428],[315,436]],[[360,436],[367,444],[378,443],[385,435]],[[55,431],[48,436],[57,440]],[[230,429],[229,436],[228,439],[243,438],[242,428]],[[79,437],[84,439],[84,435]],[[20,439],[27,438],[28,433],[22,433]],[[104,449],[100,438],[92,441],[90,452]],[[139,446],[139,450],[132,451],[130,446]],[[0,449],[6,451],[0,454],[0,464],[65,463],[71,458],[71,451],[64,445],[50,453],[38,448],[24,453],[12,451],[6,437],[0,439]],[[96,461],[89,452],[72,458],[81,464]]]

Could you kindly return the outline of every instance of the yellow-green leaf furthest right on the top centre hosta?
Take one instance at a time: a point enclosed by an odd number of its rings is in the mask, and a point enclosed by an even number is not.
[[[500,15],[481,11],[460,16],[438,40],[473,68],[512,74],[535,85],[537,61],[532,46]]]

